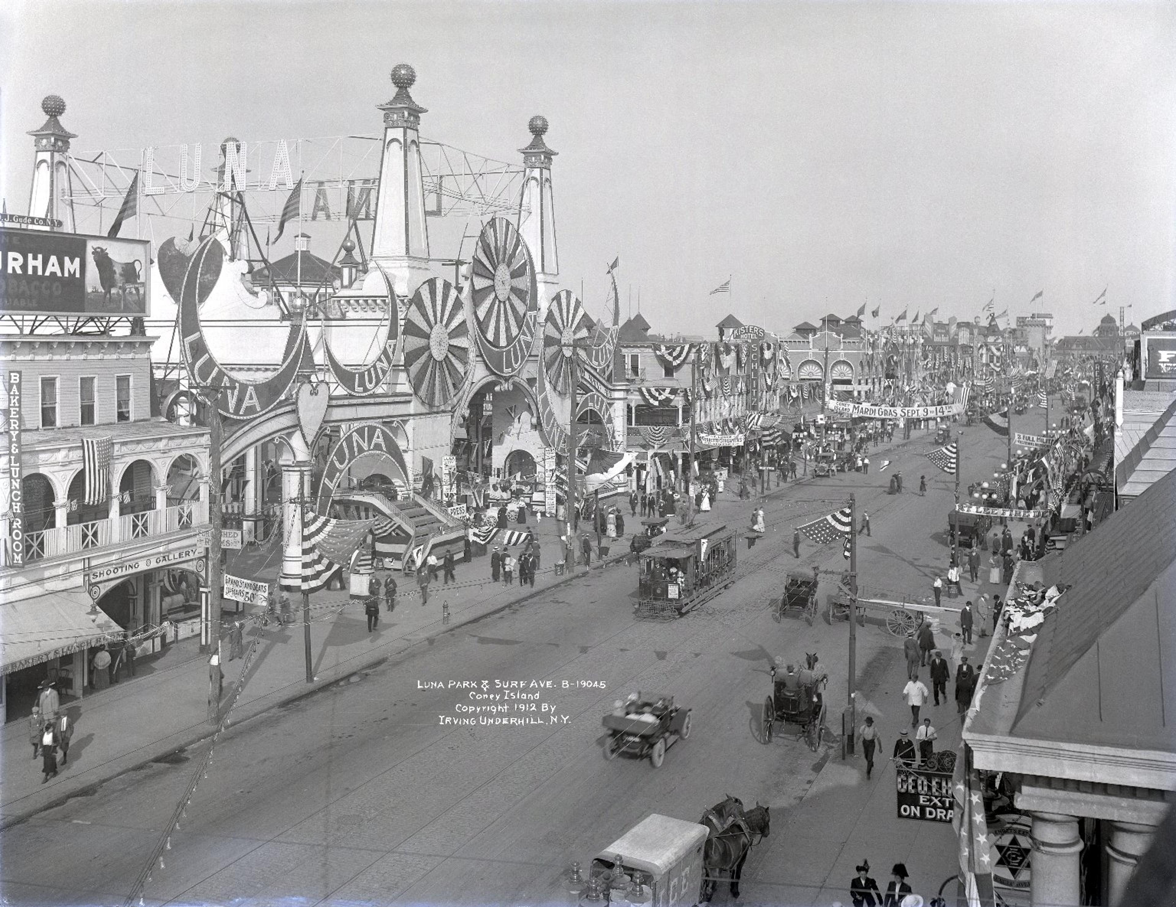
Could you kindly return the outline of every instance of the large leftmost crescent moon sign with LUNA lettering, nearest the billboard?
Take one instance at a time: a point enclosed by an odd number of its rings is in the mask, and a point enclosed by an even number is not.
[[[225,248],[214,237],[205,240],[188,263],[180,293],[180,336],[183,363],[192,383],[216,388],[216,410],[229,418],[246,419],[268,412],[286,396],[299,371],[314,369],[314,357],[306,334],[306,318],[290,324],[282,354],[282,364],[269,378],[249,383],[239,381],[221,368],[205,340],[199,307],[215,291],[221,281],[233,280],[230,269],[223,268]],[[205,280],[215,274],[215,284]]]

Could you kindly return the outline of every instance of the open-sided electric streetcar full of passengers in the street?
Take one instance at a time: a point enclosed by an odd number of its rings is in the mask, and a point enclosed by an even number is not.
[[[681,617],[735,582],[735,530],[699,523],[641,552],[636,617]]]

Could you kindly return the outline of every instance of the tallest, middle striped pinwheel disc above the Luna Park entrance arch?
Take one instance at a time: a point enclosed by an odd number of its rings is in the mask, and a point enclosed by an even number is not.
[[[539,303],[535,266],[509,221],[495,217],[482,228],[470,288],[477,347],[492,371],[509,377],[522,368],[535,340]]]

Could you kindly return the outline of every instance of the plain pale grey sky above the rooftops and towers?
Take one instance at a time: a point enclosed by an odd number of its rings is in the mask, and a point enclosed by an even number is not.
[[[1172,4],[8,0],[0,195],[27,209],[49,93],[75,150],[208,161],[374,133],[408,62],[428,139],[521,162],[547,116],[560,276],[594,315],[620,257],[622,316],[640,296],[666,334],[994,296],[1089,334],[1176,308],[1172,48]]]

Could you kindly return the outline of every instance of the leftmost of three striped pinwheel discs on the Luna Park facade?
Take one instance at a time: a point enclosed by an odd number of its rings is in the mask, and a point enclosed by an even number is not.
[[[461,296],[433,277],[416,288],[405,313],[405,369],[413,392],[435,409],[453,399],[469,365],[469,328]]]

